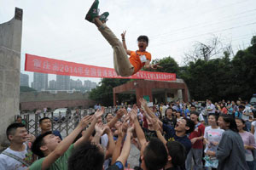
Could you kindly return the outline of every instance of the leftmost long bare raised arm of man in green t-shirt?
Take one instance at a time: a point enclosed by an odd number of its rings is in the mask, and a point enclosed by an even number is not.
[[[60,144],[53,150],[48,156],[44,158],[42,163],[42,169],[48,169],[52,163],[54,163],[60,156],[62,156],[69,146],[73,143],[73,140],[79,135],[79,133],[86,127],[90,122],[91,116],[85,116],[78,127],[76,127],[72,133],[70,133]]]

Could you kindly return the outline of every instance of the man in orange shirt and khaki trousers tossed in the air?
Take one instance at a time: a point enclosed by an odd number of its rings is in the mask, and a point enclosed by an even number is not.
[[[99,1],[95,0],[91,5],[88,13],[85,16],[85,20],[94,23],[98,30],[102,33],[102,36],[109,42],[113,48],[113,65],[116,73],[121,77],[130,77],[131,75],[140,71],[143,66],[146,69],[156,69],[160,67],[158,64],[151,65],[151,54],[146,51],[148,47],[148,37],[140,36],[137,38],[138,50],[130,51],[126,48],[125,44],[125,32],[122,36],[122,42],[113,34],[113,32],[106,26],[108,20],[108,12],[99,15],[98,9]],[[128,59],[127,54],[130,55]]]

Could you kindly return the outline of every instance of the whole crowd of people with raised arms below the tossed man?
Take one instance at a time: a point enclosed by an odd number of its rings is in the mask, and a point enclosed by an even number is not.
[[[7,127],[10,146],[0,169],[131,169],[131,144],[140,150],[133,169],[255,169],[252,106],[237,100],[127,105],[104,115],[104,106],[84,116],[67,137],[39,120],[38,137],[20,117]],[[79,114],[76,111],[74,116]]]

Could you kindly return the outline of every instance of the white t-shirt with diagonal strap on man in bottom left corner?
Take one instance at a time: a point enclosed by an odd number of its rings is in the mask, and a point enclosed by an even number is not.
[[[25,144],[26,145],[26,144]],[[23,159],[23,161],[26,161],[29,156],[27,156],[27,150],[23,151],[15,151],[11,150],[10,148],[7,148],[6,150],[3,150],[5,152],[9,152],[15,156],[20,157]],[[0,154],[0,169],[1,170],[23,170],[26,169],[26,165],[23,165],[20,161],[15,160],[14,158],[10,156],[6,156],[3,154]]]

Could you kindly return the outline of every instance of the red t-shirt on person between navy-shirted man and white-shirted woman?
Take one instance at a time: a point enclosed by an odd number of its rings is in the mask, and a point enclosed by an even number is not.
[[[197,124],[197,125],[195,125],[195,130],[192,133],[190,133],[189,139],[194,139],[197,137],[204,136],[204,133],[205,133],[205,126],[201,123],[199,126]],[[192,144],[192,148],[203,149],[203,139],[196,140],[196,142],[194,144]]]

